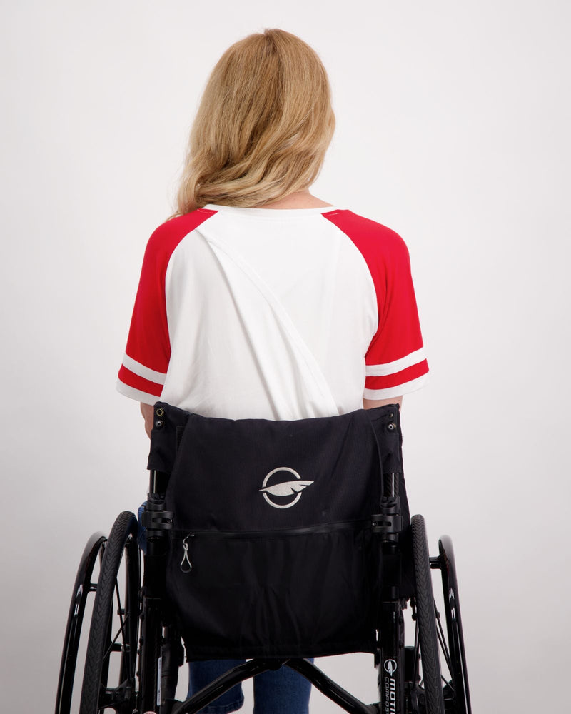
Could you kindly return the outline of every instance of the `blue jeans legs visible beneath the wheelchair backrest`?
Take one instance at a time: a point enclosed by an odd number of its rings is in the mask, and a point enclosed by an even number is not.
[[[188,663],[188,696],[196,694],[211,681],[244,661],[208,660]],[[311,661],[313,662],[313,659]],[[253,678],[253,683],[253,714],[309,714],[311,685],[305,677],[289,667],[258,674]],[[228,714],[240,709],[243,703],[242,685],[237,684],[201,709],[199,714]]]

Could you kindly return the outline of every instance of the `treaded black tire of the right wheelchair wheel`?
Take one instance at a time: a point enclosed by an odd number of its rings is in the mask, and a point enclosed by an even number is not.
[[[443,682],[440,676],[440,649],[436,628],[430,558],[423,516],[410,519],[415,570],[415,607],[423,669],[423,693],[426,714],[444,714]]]

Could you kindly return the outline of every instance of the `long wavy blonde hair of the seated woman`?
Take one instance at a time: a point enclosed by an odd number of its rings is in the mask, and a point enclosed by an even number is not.
[[[206,203],[259,206],[308,188],[334,129],[328,76],[308,44],[279,29],[236,42],[206,84],[175,215]]]

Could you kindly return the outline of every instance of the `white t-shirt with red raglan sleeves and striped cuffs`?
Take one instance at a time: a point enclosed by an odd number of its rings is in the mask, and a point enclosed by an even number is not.
[[[148,241],[118,390],[300,419],[400,396],[427,373],[397,233],[333,207],[208,205]]]

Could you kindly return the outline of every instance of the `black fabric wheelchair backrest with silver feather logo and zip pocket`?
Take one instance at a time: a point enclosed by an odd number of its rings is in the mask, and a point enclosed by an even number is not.
[[[166,593],[193,659],[374,652],[372,516],[398,473],[398,407],[300,421],[156,405],[148,468],[170,474]]]

